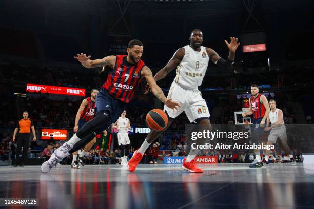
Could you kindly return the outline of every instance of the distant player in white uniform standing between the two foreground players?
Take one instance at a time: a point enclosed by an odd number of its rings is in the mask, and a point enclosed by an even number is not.
[[[121,150],[121,165],[128,166],[127,156],[130,150],[130,139],[128,129],[131,129],[130,120],[125,117],[126,111],[124,110],[121,117],[113,124],[112,128],[117,128],[118,145]]]

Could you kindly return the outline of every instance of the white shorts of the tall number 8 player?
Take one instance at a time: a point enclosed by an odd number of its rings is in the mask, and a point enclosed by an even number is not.
[[[183,111],[188,117],[190,122],[195,122],[196,119],[210,116],[205,99],[202,98],[202,94],[199,90],[186,90],[173,82],[167,98],[171,98],[173,101],[179,102],[181,107],[177,111],[164,107],[164,111],[167,111],[169,117],[176,118]]]

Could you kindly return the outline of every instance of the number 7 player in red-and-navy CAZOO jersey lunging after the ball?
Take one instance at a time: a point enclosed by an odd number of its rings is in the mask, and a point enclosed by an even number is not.
[[[74,57],[86,68],[110,66],[112,70],[108,72],[107,81],[97,95],[96,117],[88,121],[69,141],[55,150],[50,159],[42,164],[41,172],[49,172],[53,166],[57,165],[58,161],[93,139],[93,137],[88,139],[84,137],[101,133],[102,130],[115,122],[144,78],[151,87],[153,94],[167,107],[170,109],[180,107],[178,102],[165,97],[162,89],[152,77],[151,70],[141,60],[143,43],[139,40],[131,40],[128,44],[127,53],[128,55],[107,56],[95,60],[91,60],[91,56],[86,56],[86,54],[77,54],[77,57]]]

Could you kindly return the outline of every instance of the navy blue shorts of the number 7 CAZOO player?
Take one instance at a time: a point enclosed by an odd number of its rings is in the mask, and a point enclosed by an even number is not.
[[[98,92],[96,98],[96,115],[100,111],[107,110],[110,112],[109,121],[107,124],[108,128],[112,123],[115,123],[116,120],[121,116],[122,112],[125,110],[127,103],[122,102],[119,99],[114,98],[109,94],[109,92],[101,88]]]

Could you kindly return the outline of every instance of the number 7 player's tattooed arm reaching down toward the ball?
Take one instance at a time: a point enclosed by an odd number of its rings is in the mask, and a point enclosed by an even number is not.
[[[161,100],[166,106],[172,109],[176,109],[180,107],[180,104],[178,102],[172,101],[172,99],[167,99],[163,90],[157,85],[155,79],[152,77],[151,70],[144,66],[142,69],[141,75],[146,79],[148,82],[149,87],[151,88],[152,93]]]

